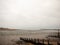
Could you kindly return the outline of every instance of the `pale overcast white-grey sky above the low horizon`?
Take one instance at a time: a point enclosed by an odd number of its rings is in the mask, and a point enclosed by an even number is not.
[[[60,28],[60,0],[0,0],[0,27]]]

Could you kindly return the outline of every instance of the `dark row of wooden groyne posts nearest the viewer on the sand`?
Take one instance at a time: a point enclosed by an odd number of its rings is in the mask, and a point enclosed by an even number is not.
[[[45,39],[32,39],[32,38],[22,38],[20,37],[20,40],[23,40],[27,43],[32,43],[34,45],[53,45],[50,40]]]

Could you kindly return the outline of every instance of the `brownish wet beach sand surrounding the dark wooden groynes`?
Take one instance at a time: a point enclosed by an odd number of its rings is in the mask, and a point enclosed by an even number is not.
[[[14,31],[0,31],[0,45],[35,45],[31,42],[26,42],[21,40],[20,38],[25,39],[39,39],[39,40],[48,40],[48,35],[56,33],[56,30],[14,30]],[[50,43],[57,45],[57,40],[52,40],[53,38],[50,37]],[[17,44],[16,42],[20,41],[23,44]],[[45,41],[44,43],[47,44]]]

